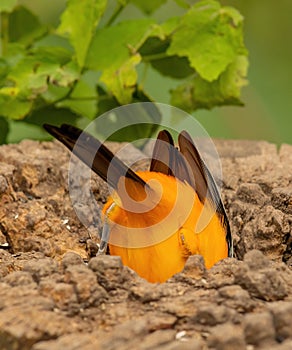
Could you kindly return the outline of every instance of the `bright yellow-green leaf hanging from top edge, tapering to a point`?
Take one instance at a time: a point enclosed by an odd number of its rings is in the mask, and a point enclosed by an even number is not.
[[[80,67],[84,66],[88,47],[106,4],[107,0],[68,0],[67,2],[58,31],[69,35]]]

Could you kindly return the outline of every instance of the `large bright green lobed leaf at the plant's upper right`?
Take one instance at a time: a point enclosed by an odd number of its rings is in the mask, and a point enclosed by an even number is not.
[[[182,17],[167,53],[186,56],[203,79],[216,80],[238,54],[246,54],[242,22],[235,9],[200,1]]]

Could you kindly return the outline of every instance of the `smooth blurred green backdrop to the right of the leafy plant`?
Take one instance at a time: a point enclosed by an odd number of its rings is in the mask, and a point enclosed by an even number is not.
[[[249,85],[244,108],[222,107],[195,115],[215,137],[292,144],[292,1],[222,0],[244,16]]]

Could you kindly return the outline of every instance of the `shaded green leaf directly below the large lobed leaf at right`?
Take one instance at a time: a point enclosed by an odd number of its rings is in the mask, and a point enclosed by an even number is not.
[[[172,91],[171,103],[188,112],[220,105],[242,105],[241,88],[247,85],[248,60],[238,56],[220,77],[212,82],[196,76]]]

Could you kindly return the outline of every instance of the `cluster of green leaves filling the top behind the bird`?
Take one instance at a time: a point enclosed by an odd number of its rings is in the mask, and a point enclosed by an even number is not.
[[[248,61],[235,8],[215,0],[42,4],[0,2],[1,142],[42,138],[43,122],[82,124],[135,101],[189,112],[242,105]]]

